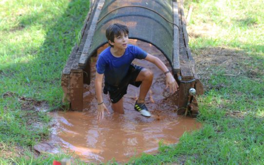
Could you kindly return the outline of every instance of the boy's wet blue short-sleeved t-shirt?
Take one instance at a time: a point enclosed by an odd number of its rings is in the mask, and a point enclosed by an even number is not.
[[[105,75],[105,82],[117,86],[127,75],[129,66],[136,59],[145,59],[147,52],[134,45],[128,45],[124,55],[114,57],[110,51],[111,47],[103,50],[96,63],[96,71]]]

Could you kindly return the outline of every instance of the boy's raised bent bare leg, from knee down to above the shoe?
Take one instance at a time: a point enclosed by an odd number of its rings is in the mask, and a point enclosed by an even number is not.
[[[153,73],[149,69],[142,69],[136,77],[136,82],[141,82],[138,103],[144,103],[147,93],[150,90],[153,80]]]

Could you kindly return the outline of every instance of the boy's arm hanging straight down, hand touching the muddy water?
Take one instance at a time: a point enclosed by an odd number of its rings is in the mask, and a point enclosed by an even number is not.
[[[100,120],[101,118],[104,118],[104,110],[109,114],[108,109],[106,108],[104,102],[103,102],[103,96],[102,96],[102,80],[103,80],[104,74],[99,74],[96,72],[95,75],[95,92],[96,92],[96,98],[97,98],[97,119]]]

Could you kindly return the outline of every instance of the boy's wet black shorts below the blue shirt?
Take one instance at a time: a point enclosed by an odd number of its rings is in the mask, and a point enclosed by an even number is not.
[[[131,65],[127,76],[120,82],[120,85],[113,86],[105,82],[104,94],[109,93],[112,103],[118,102],[125,94],[127,94],[128,85],[132,84],[139,87],[141,82],[135,82],[139,72],[144,69],[142,66]]]

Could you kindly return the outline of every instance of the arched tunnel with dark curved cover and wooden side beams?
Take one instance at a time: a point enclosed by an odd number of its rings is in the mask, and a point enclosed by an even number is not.
[[[90,58],[107,43],[106,27],[111,23],[122,23],[129,27],[131,39],[154,45],[170,62],[174,77],[180,84],[182,99],[178,103],[178,114],[189,111],[197,115],[198,104],[195,97],[190,96],[189,89],[195,88],[196,94],[203,94],[203,85],[195,73],[182,3],[171,0],[130,0],[126,3],[122,0],[94,0],[92,3],[81,31],[81,42],[75,45],[63,69],[63,100],[70,102],[73,110],[82,110],[83,83],[90,84]],[[168,10],[159,10],[156,4]],[[141,19],[135,21],[139,17]],[[149,21],[144,21],[146,19]]]

